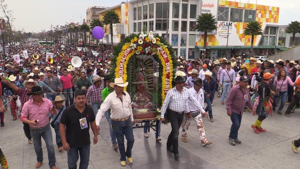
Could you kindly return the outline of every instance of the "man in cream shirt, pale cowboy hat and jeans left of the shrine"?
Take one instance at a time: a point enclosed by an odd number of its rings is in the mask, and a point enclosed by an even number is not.
[[[126,165],[126,156],[129,163],[132,163],[131,149],[134,143],[133,136],[133,113],[130,101],[130,95],[124,91],[124,87],[128,82],[124,83],[123,78],[116,78],[114,83],[109,84],[115,88],[101,104],[96,116],[96,126],[99,131],[99,123],[102,116],[110,108],[111,109],[111,126],[118,141],[118,147],[121,155],[121,165]],[[127,149],[125,151],[124,135],[127,140]]]

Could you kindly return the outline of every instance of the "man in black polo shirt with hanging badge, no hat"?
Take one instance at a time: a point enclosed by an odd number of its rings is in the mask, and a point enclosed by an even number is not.
[[[90,126],[94,133],[94,144],[96,144],[98,137],[93,109],[86,104],[85,91],[76,90],[75,103],[65,109],[59,126],[62,146],[68,152],[69,169],[77,168],[78,152],[80,154],[79,168],[87,169],[89,166]]]

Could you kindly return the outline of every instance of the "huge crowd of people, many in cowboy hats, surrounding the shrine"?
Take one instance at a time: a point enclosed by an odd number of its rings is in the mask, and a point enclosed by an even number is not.
[[[28,51],[29,58],[23,56],[24,50]],[[92,50],[97,50],[100,56],[94,56]],[[77,168],[80,156],[79,168],[87,168],[90,154],[89,128],[93,131],[93,144],[97,144],[99,123],[104,115],[113,148],[120,151],[120,164],[125,166],[126,158],[129,163],[133,162],[131,149],[134,145],[134,118],[130,95],[124,91],[128,82],[124,83],[122,78],[111,81],[112,51],[110,46],[78,51],[76,48],[53,45],[19,45],[11,47],[10,52],[2,56],[1,127],[5,124],[5,107],[9,107],[12,120],[20,118],[28,143],[34,143],[36,168],[43,163],[42,138],[47,147],[48,165],[51,169],[57,168],[51,127],[55,131],[58,151],[67,151],[68,167]],[[53,53],[53,63],[46,60],[48,52]],[[20,63],[11,58],[14,54],[20,54]],[[34,54],[38,57],[31,57]],[[74,56],[81,58],[81,66],[73,67],[71,59]],[[175,87],[166,94],[160,119],[164,122],[165,114],[168,113],[172,130],[166,146],[174,153],[176,160],[180,158],[180,127],[182,141],[187,142],[192,119],[197,125],[201,145],[212,144],[205,135],[202,117],[214,121],[212,106],[215,93],[221,97],[222,105],[226,103],[227,115],[232,121],[229,135],[231,145],[241,143],[238,130],[243,112],[247,109],[253,115],[258,115],[252,128],[259,134],[266,132],[261,127],[262,121],[269,114],[272,115],[276,107],[277,113],[282,114],[284,105],[289,105],[284,112],[287,117],[299,108],[299,60],[263,62],[253,57],[237,57],[230,60],[204,58],[186,61],[179,57],[177,62],[176,78],[173,80]],[[62,99],[60,94],[65,98]],[[160,125],[157,127],[160,135]],[[124,135],[127,140],[126,150]],[[148,137],[147,130],[144,130],[144,136]],[[297,153],[300,139],[293,141],[292,146]],[[2,168],[7,168],[7,162],[4,163]]]

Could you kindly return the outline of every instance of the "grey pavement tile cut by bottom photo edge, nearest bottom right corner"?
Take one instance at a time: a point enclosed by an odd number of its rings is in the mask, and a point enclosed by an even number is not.
[[[260,153],[260,152],[252,152],[243,156],[236,158],[237,160],[241,160],[245,163],[248,163],[256,168],[266,168],[266,169],[274,169],[274,168],[288,168],[288,169],[296,169],[298,167],[294,167],[287,162],[283,162],[281,160],[277,160],[269,155]]]

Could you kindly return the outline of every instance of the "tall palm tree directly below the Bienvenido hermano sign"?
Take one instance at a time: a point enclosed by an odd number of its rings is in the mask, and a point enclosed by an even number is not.
[[[197,25],[196,25],[196,30],[198,32],[204,32],[204,44],[203,48],[206,49],[206,43],[207,43],[207,32],[216,30],[217,29],[217,21],[215,16],[213,16],[211,13],[203,13],[201,15],[198,15],[197,17]],[[205,57],[207,57],[206,51]]]

